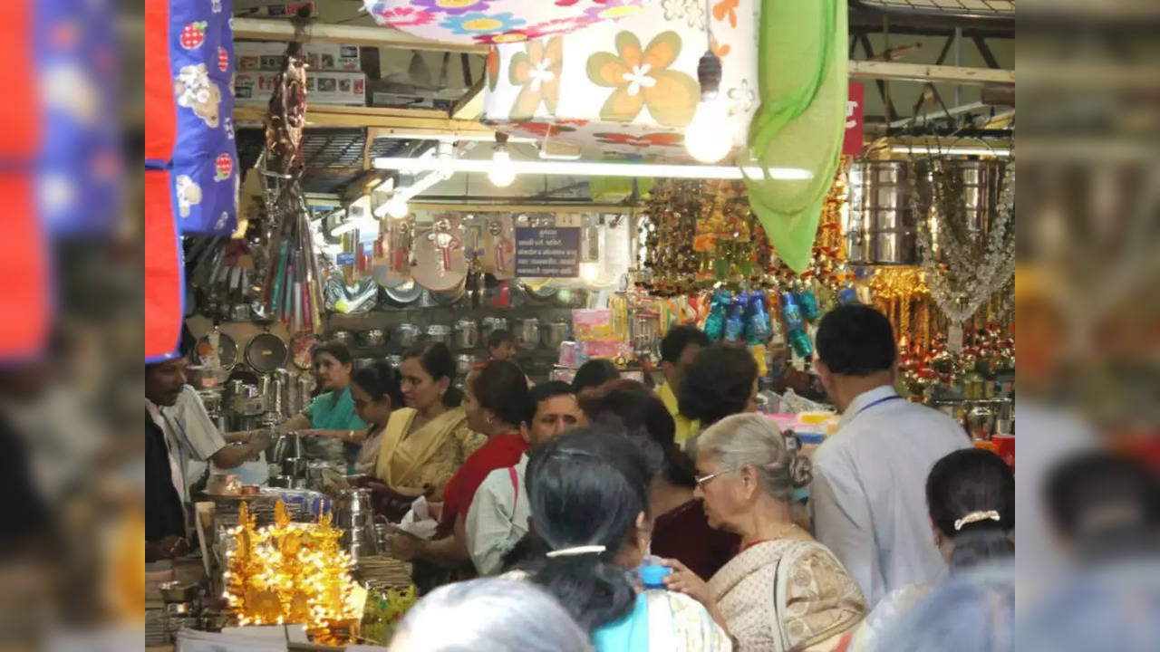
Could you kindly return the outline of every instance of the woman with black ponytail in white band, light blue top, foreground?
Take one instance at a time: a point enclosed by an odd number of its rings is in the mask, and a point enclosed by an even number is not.
[[[530,579],[592,633],[597,652],[728,651],[728,637],[702,606],[635,588],[648,550],[651,479],[641,448],[606,422],[532,450],[528,499],[549,552]]]

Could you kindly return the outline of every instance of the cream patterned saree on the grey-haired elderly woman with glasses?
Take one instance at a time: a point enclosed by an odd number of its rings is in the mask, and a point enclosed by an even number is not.
[[[815,541],[771,541],[744,550],[713,575],[709,589],[740,652],[805,650],[865,616],[862,592]]]

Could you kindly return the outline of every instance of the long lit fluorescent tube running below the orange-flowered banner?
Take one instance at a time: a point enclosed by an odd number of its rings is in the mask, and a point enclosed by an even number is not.
[[[422,172],[437,169],[441,164],[430,159],[377,158],[377,169]],[[487,173],[495,165],[491,159],[451,159],[443,161],[452,172]],[[741,168],[731,165],[668,165],[629,164],[607,161],[512,161],[516,174],[551,174],[567,176],[655,176],[669,179],[744,179]],[[746,167],[752,179],[763,179],[759,167]],[[793,167],[769,168],[771,179],[780,181],[809,181],[813,172]]]

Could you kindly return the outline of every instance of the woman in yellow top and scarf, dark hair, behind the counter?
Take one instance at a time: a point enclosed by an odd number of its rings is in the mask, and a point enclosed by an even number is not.
[[[443,488],[469,455],[487,437],[471,432],[451,386],[455,360],[440,342],[412,349],[403,358],[406,407],[391,414],[375,464],[379,510],[392,521],[406,514],[420,495],[443,500]]]

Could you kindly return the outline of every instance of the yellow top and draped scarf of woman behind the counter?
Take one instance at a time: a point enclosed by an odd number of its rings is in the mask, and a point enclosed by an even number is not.
[[[405,407],[391,414],[383,432],[375,476],[390,487],[432,485],[440,492],[464,459],[486,442],[467,428],[463,408],[448,410],[409,435],[418,412]]]

